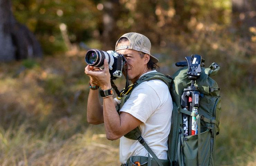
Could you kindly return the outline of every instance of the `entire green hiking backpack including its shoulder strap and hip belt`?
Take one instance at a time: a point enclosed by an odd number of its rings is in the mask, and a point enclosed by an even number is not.
[[[148,151],[148,157],[131,156],[126,164],[123,166],[140,165],[147,166],[197,166],[197,165],[214,165],[216,135],[219,133],[219,118],[220,118],[220,88],[217,83],[211,78],[216,75],[220,66],[213,63],[210,67],[201,67],[202,72],[195,81],[195,86],[198,86],[200,93],[200,107],[198,115],[188,110],[181,108],[181,95],[183,90],[191,85],[188,79],[188,67],[182,67],[172,77],[164,75],[159,72],[148,73],[139,78],[128,93],[122,96],[119,108],[129,98],[131,91],[144,81],[162,80],[169,88],[172,100],[172,120],[171,130],[168,137],[168,160],[160,160],[156,157],[154,152],[146,144],[147,140],[141,137],[141,131],[137,127],[125,135],[126,138],[138,140]],[[120,110],[118,108],[118,110]],[[196,117],[198,120],[198,135],[190,135],[184,137],[184,130],[182,128],[182,113],[189,116]],[[150,155],[153,158],[150,158]]]

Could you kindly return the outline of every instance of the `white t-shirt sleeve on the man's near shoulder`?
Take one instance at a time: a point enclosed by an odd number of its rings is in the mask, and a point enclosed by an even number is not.
[[[120,112],[127,112],[145,123],[160,105],[157,92],[147,82],[138,85],[125,102]]]

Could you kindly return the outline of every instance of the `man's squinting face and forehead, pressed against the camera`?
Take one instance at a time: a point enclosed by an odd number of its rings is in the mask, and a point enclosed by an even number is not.
[[[130,45],[130,42],[122,42],[117,46],[127,46]],[[145,58],[140,58],[140,54],[136,50],[132,49],[121,49],[117,51],[119,54],[123,54],[127,61],[127,74],[128,79],[131,80],[132,83],[135,83],[139,76],[145,73],[148,70],[147,62]],[[145,56],[144,56],[145,57]]]

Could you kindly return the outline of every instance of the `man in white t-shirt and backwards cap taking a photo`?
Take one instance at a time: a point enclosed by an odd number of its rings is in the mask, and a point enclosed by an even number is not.
[[[150,48],[149,39],[138,33],[124,34],[116,43],[116,51],[126,58],[128,79],[133,84],[141,76],[156,72],[158,59],[150,54]],[[173,108],[167,85],[160,80],[140,83],[132,89],[118,113],[116,106],[121,101],[108,95],[103,98],[102,107],[98,90],[95,90],[96,85],[102,90],[111,89],[108,62],[104,61],[102,71],[86,66],[85,74],[90,77],[90,87],[94,89],[88,96],[87,120],[92,124],[104,123],[107,139],[120,138],[120,162],[127,163],[131,156],[148,156],[148,151],[138,140],[124,137],[136,127],[157,158],[166,160]]]

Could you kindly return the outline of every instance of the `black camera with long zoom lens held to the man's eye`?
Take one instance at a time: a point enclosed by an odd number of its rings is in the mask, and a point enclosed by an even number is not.
[[[90,49],[85,54],[85,62],[94,67],[104,68],[104,59],[108,60],[110,79],[115,80],[122,76],[122,67],[125,63],[125,57],[115,51],[104,52],[98,49]]]

